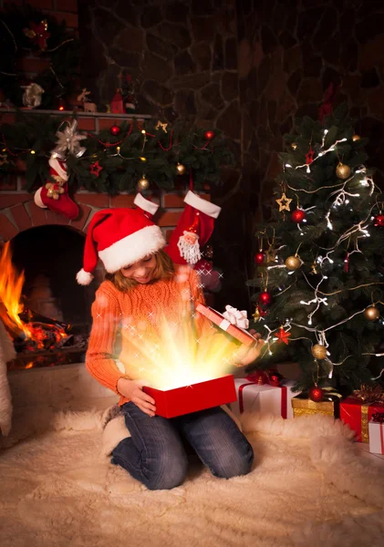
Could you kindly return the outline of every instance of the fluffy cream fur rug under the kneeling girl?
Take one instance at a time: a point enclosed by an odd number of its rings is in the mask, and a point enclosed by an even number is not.
[[[245,416],[249,475],[195,465],[150,491],[100,455],[100,419],[69,414],[0,450],[2,547],[383,545],[384,474],[341,422]]]

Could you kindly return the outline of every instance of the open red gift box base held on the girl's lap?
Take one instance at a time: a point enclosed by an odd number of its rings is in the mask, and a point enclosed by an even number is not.
[[[142,389],[155,399],[156,414],[162,418],[175,418],[205,408],[220,407],[233,403],[237,398],[232,374],[167,391],[147,386]]]

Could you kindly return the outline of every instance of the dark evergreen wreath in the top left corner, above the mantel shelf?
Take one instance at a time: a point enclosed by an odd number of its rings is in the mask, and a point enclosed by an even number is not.
[[[31,54],[47,60],[49,66],[34,77],[44,89],[40,108],[57,108],[59,98],[74,88],[80,63],[80,43],[68,34],[66,23],[32,7],[5,5],[0,15],[0,88],[16,107],[23,105],[23,86],[30,84],[19,69]]]

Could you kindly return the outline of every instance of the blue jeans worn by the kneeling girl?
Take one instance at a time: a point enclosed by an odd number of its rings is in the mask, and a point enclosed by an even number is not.
[[[251,470],[254,450],[223,408],[178,418],[150,418],[134,403],[122,406],[131,437],[112,452],[120,465],[149,490],[179,486],[188,470],[185,440],[215,477],[230,479]]]

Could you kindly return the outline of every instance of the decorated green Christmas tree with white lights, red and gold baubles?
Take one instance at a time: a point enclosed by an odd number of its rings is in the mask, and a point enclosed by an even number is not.
[[[384,195],[366,144],[345,105],[323,123],[297,119],[279,155],[272,218],[257,226],[248,284],[258,289],[261,363],[299,363],[300,390],[350,392],[383,370]]]

